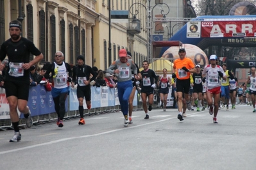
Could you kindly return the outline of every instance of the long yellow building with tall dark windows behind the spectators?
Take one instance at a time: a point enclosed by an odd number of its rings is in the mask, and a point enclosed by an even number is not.
[[[111,10],[130,10],[133,3],[146,0],[113,0]],[[19,4],[20,3],[20,4]],[[28,38],[52,62],[62,51],[67,63],[76,64],[78,55],[85,63],[106,70],[118,58],[119,49],[130,50],[135,63],[147,58],[146,9],[137,6],[141,33],[130,34],[129,23],[111,23],[111,56],[108,56],[107,0],[0,0],[0,45],[10,38],[9,22],[22,21],[22,36]],[[133,12],[135,12],[132,8]],[[132,15],[130,17],[132,19]],[[130,19],[130,20],[131,20]],[[33,59],[33,56],[31,56]]]

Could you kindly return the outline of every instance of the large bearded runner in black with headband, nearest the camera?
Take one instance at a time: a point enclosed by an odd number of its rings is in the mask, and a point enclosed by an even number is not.
[[[17,108],[20,112],[24,113],[26,126],[30,128],[33,124],[31,112],[28,107],[30,67],[44,58],[33,42],[21,36],[21,29],[21,22],[19,20],[12,20],[9,24],[11,38],[2,43],[0,50],[0,71],[3,71],[5,68],[6,64],[3,65],[1,61],[3,61],[6,55],[9,61],[4,86],[14,129],[14,135],[10,139],[10,142],[21,141]],[[30,54],[36,56],[31,61]]]

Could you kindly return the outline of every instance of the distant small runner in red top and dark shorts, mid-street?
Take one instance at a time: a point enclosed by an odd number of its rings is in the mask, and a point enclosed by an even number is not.
[[[169,86],[171,86],[171,77],[167,75],[167,69],[163,69],[163,74],[158,77],[157,86],[159,87],[160,101],[166,111]]]

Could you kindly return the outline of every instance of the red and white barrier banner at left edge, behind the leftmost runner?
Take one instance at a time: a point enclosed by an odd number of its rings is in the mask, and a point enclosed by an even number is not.
[[[10,119],[9,104],[6,99],[4,88],[0,88],[0,108],[0,120]]]

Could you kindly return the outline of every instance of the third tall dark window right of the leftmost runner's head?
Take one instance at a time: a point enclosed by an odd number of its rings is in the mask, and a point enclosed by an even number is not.
[[[56,20],[55,15],[50,17],[50,29],[51,29],[51,61],[55,61],[56,52]]]

